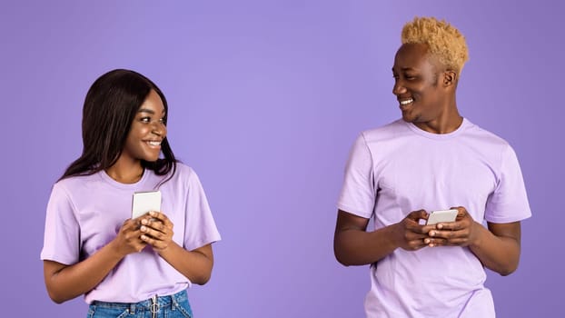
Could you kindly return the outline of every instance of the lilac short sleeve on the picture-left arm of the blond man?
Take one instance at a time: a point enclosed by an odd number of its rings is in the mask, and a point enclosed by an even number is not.
[[[361,134],[352,146],[345,167],[338,209],[364,218],[371,218],[376,199],[372,155]]]

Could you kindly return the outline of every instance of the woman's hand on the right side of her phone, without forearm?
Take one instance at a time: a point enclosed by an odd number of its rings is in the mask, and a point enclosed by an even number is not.
[[[173,242],[173,223],[160,212],[150,212],[141,221],[141,239],[161,253]]]

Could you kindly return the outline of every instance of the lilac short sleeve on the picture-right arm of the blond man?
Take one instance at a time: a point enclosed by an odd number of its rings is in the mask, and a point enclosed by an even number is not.
[[[516,153],[510,145],[501,158],[501,172],[494,192],[486,204],[485,219],[504,224],[520,221],[531,216],[526,187]]]

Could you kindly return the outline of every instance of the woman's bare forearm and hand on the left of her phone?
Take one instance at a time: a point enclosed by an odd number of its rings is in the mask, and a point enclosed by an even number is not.
[[[82,262],[66,265],[44,261],[45,286],[55,303],[64,303],[91,291],[125,255],[144,249],[136,220],[127,220],[113,241]]]

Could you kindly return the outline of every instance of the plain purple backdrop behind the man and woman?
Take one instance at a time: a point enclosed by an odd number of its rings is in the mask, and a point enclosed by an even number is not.
[[[334,260],[335,201],[355,136],[400,115],[392,59],[414,15],[466,35],[461,114],[520,158],[534,217],[519,270],[489,273],[497,312],[555,316],[565,283],[558,3],[3,1],[2,316],[85,315],[82,298],[56,305],[45,292],[45,205],[82,149],[86,90],[125,67],[164,90],[173,150],[201,176],[223,234],[212,281],[189,291],[197,317],[361,317],[369,269]]]

